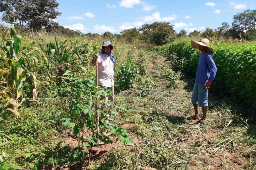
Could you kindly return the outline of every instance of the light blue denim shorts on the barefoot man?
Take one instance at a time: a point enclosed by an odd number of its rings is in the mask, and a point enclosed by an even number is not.
[[[192,104],[199,104],[199,107],[208,106],[208,89],[204,89],[204,83],[195,82],[191,97]]]

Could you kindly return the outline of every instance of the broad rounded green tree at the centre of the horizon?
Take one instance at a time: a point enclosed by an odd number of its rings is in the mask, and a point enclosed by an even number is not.
[[[143,24],[140,31],[143,39],[156,45],[164,45],[174,40],[175,30],[169,22],[154,22],[152,24]]]

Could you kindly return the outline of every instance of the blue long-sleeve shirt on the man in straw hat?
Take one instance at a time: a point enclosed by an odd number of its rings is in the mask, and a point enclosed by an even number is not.
[[[198,66],[196,70],[196,82],[206,83],[212,82],[217,72],[217,67],[210,53],[201,54],[199,56]]]

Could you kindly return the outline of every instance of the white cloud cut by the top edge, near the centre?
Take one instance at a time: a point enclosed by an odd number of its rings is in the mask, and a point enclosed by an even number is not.
[[[133,8],[134,5],[142,5],[143,11],[150,11],[156,7],[155,5],[150,5],[150,4],[147,4],[146,2],[140,1],[140,0],[122,0],[119,3],[119,6],[124,7],[124,8]]]

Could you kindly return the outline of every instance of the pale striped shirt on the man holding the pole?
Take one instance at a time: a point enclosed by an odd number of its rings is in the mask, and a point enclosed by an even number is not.
[[[99,86],[113,87],[114,86],[114,63],[111,61],[110,57],[107,54],[98,54],[98,81]],[[91,66],[96,66],[92,64]]]

